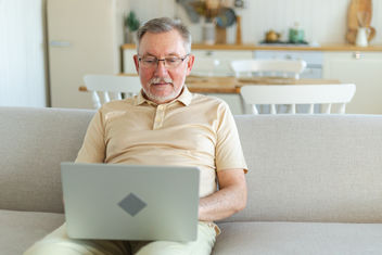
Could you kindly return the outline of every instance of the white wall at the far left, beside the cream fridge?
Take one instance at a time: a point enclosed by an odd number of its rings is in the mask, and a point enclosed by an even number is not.
[[[46,106],[43,0],[0,0],[0,105]]]

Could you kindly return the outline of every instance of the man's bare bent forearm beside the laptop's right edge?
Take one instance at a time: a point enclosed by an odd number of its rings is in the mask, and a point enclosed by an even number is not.
[[[246,181],[243,169],[218,170],[219,190],[199,202],[199,219],[214,221],[227,218],[246,205]]]

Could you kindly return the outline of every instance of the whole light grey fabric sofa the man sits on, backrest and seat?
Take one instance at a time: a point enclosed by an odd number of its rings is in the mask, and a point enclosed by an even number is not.
[[[64,221],[59,163],[93,111],[0,107],[0,254]],[[235,116],[247,207],[213,254],[382,254],[382,116]]]

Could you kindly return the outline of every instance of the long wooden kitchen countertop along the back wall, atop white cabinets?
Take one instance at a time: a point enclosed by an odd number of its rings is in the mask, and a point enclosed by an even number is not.
[[[136,49],[135,44],[123,44],[122,49]],[[357,47],[348,43],[311,46],[264,46],[264,44],[201,44],[193,43],[193,50],[278,50],[278,51],[371,51],[382,52],[382,46]]]

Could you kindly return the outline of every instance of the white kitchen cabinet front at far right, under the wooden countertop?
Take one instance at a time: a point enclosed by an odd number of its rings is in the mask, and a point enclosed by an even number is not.
[[[382,52],[324,52],[323,78],[355,84],[346,113],[382,114]]]

